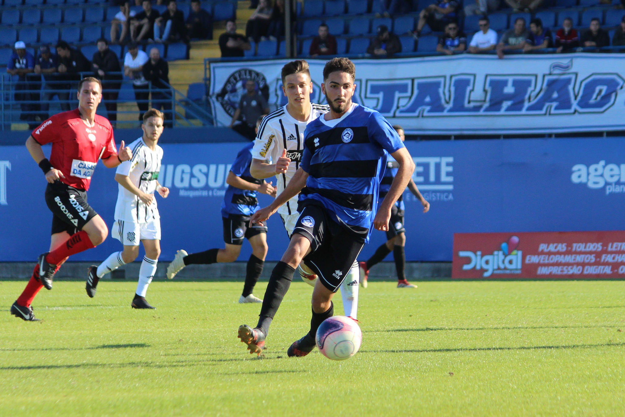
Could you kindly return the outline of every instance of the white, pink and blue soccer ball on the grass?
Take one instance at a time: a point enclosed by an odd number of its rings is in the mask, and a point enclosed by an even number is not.
[[[325,319],[317,329],[317,348],[328,359],[349,359],[360,349],[362,331],[356,320],[346,316]]]

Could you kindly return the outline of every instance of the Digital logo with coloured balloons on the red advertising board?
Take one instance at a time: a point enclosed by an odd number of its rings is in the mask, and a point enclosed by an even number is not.
[[[469,263],[462,265],[462,271],[469,269],[484,270],[482,276],[487,278],[492,273],[520,274],[523,251],[517,250],[519,238],[511,236],[507,242],[501,244],[501,251],[493,251],[491,255],[482,256],[482,251],[459,251],[458,256],[469,258]]]

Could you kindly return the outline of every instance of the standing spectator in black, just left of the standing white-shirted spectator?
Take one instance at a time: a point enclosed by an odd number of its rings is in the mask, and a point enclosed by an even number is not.
[[[93,54],[91,63],[94,77],[102,81],[102,101],[108,113],[111,126],[117,123],[117,99],[123,79],[119,59],[116,53],[109,49],[106,39],[98,39],[98,52]]]

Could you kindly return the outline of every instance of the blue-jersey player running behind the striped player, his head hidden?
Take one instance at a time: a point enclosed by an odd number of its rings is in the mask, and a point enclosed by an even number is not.
[[[254,296],[252,290],[261,276],[267,256],[267,227],[250,223],[250,217],[260,208],[257,193],[276,196],[276,189],[271,183],[253,178],[249,173],[253,146],[254,143],[250,143],[239,151],[226,178],[228,188],[221,203],[226,248],[192,254],[181,249],[167,268],[167,278],[172,279],[187,265],[234,262],[241,253],[243,239],[247,238],[252,246],[252,254],[247,261],[245,284],[239,303],[262,303],[262,299]]]

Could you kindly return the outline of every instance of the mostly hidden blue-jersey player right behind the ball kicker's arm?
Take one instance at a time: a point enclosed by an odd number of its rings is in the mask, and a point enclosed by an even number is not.
[[[399,139],[403,142],[405,139],[404,129],[398,124],[392,128],[395,129],[399,135]],[[397,174],[397,167],[397,161],[395,161],[392,156],[389,157],[386,161],[386,171],[384,171],[384,176],[380,183],[380,198],[384,198],[389,189],[391,189],[392,180]],[[427,213],[429,211],[429,203],[423,198],[421,193],[419,193],[417,184],[412,181],[412,178],[408,183],[408,189],[423,205],[423,213]],[[392,206],[391,221],[386,231],[386,243],[381,244],[380,247],[377,248],[376,253],[374,253],[371,258],[367,259],[367,261],[358,263],[360,267],[361,284],[364,288],[367,288],[369,269],[386,258],[386,255],[391,253],[391,251],[395,259],[395,269],[397,270],[397,288],[417,288],[416,285],[407,281],[406,273],[404,272],[406,270],[406,253],[404,251],[404,246],[406,246],[404,209],[404,198],[403,196],[399,196],[399,199],[397,199],[396,203]]]

